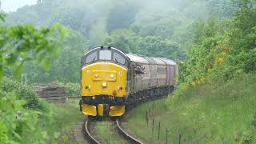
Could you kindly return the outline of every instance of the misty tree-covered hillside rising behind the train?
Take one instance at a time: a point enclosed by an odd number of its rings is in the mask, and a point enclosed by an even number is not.
[[[205,21],[210,15],[230,18],[235,7],[230,0],[40,0],[7,14],[6,23],[50,26],[59,22],[70,29],[70,39],[78,40],[66,40],[60,58],[52,62],[53,70],[45,73],[28,65],[25,72],[31,82],[78,82],[78,59],[95,46],[114,46],[126,53],[183,61],[191,47],[194,21]],[[68,74],[70,67],[74,71]]]

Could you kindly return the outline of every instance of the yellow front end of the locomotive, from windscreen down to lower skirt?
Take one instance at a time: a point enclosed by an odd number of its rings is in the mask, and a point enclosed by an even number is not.
[[[127,60],[120,50],[99,47],[82,58],[82,113],[122,116],[125,113]]]

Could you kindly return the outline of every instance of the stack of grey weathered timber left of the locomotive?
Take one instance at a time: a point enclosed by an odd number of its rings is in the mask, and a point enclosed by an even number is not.
[[[33,86],[38,97],[47,102],[66,102],[66,87],[60,86]]]

